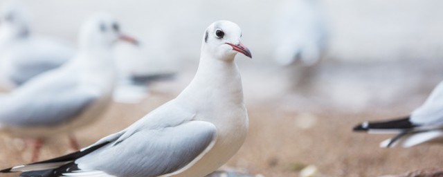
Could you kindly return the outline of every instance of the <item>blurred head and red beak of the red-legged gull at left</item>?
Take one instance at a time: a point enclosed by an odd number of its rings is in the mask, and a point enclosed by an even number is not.
[[[127,41],[138,45],[136,39],[125,35],[120,30],[120,24],[110,15],[94,15],[84,23],[80,30],[80,48],[89,50],[110,48],[116,41]]]

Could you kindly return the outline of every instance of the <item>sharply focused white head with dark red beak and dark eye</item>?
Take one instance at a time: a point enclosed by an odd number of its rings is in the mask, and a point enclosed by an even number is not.
[[[213,55],[217,59],[233,60],[237,53],[252,58],[251,52],[242,44],[242,30],[232,21],[215,21],[204,33],[202,54]]]

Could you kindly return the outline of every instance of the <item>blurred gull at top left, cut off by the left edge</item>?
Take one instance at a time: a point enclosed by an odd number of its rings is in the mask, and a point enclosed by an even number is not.
[[[68,44],[35,35],[28,17],[18,1],[7,1],[1,7],[0,87],[4,91],[61,66],[75,55]]]

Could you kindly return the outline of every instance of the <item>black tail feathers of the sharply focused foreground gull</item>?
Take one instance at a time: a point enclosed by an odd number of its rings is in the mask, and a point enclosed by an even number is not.
[[[96,149],[99,149],[100,147],[103,147],[107,144],[109,144],[109,142],[103,142],[99,145],[88,147],[74,153],[69,153],[66,156],[61,156],[58,158],[53,158],[40,162],[34,162],[28,165],[19,165],[15,167],[10,167],[8,169],[2,169],[0,170],[0,174],[21,172],[20,176],[23,177],[62,176],[62,174],[66,172],[78,170],[77,165],[74,163],[76,159],[81,158],[82,156],[86,156],[88,153],[91,153],[92,151],[95,151]]]

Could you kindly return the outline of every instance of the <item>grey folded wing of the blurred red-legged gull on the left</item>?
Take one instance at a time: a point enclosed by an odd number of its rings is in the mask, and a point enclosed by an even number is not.
[[[24,92],[1,100],[0,122],[7,126],[53,126],[74,118],[100,95],[73,86]]]

